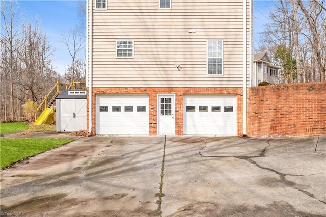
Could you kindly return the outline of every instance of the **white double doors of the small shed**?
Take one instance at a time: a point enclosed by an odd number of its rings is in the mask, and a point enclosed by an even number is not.
[[[86,99],[60,99],[60,131],[86,130]]]

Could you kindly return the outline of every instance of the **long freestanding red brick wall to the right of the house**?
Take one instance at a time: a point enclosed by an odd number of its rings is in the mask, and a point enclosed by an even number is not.
[[[248,88],[247,135],[304,137],[326,134],[326,83]]]

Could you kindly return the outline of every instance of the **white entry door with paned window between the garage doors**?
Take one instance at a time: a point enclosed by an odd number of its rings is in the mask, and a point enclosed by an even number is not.
[[[175,134],[174,95],[158,95],[158,134]]]

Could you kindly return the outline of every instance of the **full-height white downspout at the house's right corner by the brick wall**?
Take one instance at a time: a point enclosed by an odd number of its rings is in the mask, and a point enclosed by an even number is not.
[[[249,0],[251,1],[251,0]],[[243,116],[242,133],[247,125],[247,0],[243,0]]]

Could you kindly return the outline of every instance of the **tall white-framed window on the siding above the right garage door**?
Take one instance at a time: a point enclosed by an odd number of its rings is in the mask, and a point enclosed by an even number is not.
[[[223,75],[223,40],[207,40],[207,75]]]

